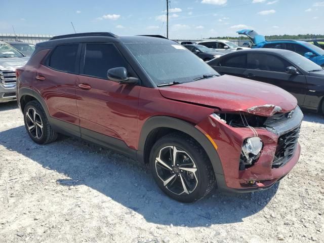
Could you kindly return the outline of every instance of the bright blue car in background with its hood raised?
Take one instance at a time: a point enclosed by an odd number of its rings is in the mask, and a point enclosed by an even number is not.
[[[263,35],[258,34],[255,30],[243,29],[237,31],[238,34],[247,35],[252,43],[252,48],[275,48],[285,49],[296,52],[321,67],[324,67],[324,50],[313,44],[302,41],[266,41]]]

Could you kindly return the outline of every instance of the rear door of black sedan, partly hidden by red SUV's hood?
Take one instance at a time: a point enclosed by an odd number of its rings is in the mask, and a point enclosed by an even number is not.
[[[208,64],[221,75],[228,74],[245,77],[245,71],[247,69],[247,54],[235,52],[235,54],[214,59],[208,62]]]

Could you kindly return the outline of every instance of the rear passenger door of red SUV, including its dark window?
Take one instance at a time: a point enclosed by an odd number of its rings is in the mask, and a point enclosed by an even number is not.
[[[37,68],[33,87],[43,96],[52,117],[79,125],[75,83],[79,67],[80,44],[59,45],[45,65]],[[79,135],[78,129],[73,135]]]

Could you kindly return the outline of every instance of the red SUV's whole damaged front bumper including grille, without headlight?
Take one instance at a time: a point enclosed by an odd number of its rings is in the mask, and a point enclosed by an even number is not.
[[[270,188],[285,177],[300,156],[297,139],[302,119],[303,113],[297,106],[284,122],[273,122],[263,128],[232,127],[213,115],[201,121],[196,127],[217,145],[223,167],[223,174],[215,174],[218,188],[234,192],[258,191]],[[242,144],[256,133],[263,142],[260,155],[253,165],[241,169]]]

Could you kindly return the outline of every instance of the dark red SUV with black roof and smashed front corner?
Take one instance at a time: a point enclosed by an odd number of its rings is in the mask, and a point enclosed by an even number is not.
[[[79,33],[38,43],[17,69],[17,100],[38,144],[80,137],[150,165],[170,197],[214,186],[271,187],[296,165],[303,113],[288,92],[219,76],[158,37]]]

